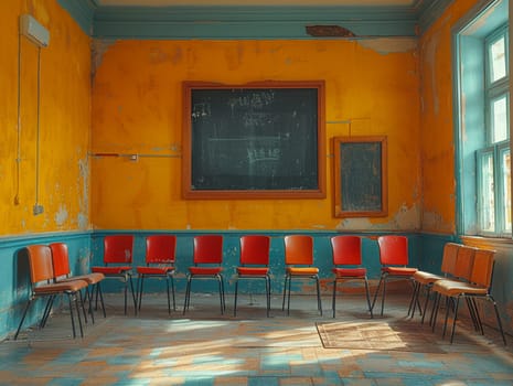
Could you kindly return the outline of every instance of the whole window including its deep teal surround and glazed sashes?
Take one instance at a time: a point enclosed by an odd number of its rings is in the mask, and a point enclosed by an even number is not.
[[[512,237],[507,6],[478,2],[452,30],[462,235]]]

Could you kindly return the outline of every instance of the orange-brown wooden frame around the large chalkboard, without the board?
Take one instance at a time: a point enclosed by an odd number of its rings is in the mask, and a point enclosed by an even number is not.
[[[312,152],[317,152],[316,189],[241,189],[241,190],[204,190],[192,184],[192,160],[201,154],[193,152],[193,106],[194,90],[231,90],[231,89],[317,89],[317,143],[312,143]],[[237,199],[324,199],[325,197],[325,118],[324,118],[324,81],[302,82],[257,82],[243,85],[226,85],[207,82],[183,82],[183,130],[182,130],[182,196],[196,200],[237,200]],[[314,151],[314,152],[313,152]],[[197,162],[197,161],[195,161]]]

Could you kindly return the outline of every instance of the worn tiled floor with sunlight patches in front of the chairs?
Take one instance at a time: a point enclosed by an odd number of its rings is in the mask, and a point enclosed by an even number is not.
[[[323,298],[323,317],[309,296],[292,297],[287,317],[277,296],[271,318],[266,318],[260,297],[241,297],[237,318],[231,297],[221,315],[216,296],[193,293],[191,308],[182,315],[179,294],[178,311],[169,315],[165,298],[147,296],[137,317],[122,314],[121,298],[106,298],[107,319],[98,312],[84,339],[67,336],[70,318],[60,313],[44,330],[24,331],[17,342],[4,341],[0,384],[513,385],[511,336],[504,347],[490,328],[481,336],[458,325],[451,345],[441,339],[440,328],[432,333],[418,318],[406,319],[408,299],[396,296],[388,298],[385,317],[374,320],[360,296],[341,297],[336,319],[329,297]],[[429,344],[325,349],[317,330],[317,323],[398,321],[410,323]]]

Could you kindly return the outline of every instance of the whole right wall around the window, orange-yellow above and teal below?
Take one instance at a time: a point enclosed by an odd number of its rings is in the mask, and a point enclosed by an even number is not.
[[[480,0],[453,1],[443,14],[419,40],[420,58],[420,143],[423,158],[423,222],[424,233],[423,265],[436,269],[440,260],[430,253],[431,246],[439,245],[443,235],[455,235],[457,229],[458,164],[455,129],[453,100],[453,52],[451,29],[477,6]],[[510,10],[511,14],[511,10]],[[463,99],[463,109],[464,107]],[[464,130],[464,128],[463,128]],[[463,140],[464,140],[463,133]],[[473,176],[471,176],[473,178]],[[461,236],[461,235],[460,235]],[[462,237],[468,245],[496,250],[492,294],[499,303],[503,323],[513,331],[513,246],[507,240],[493,240],[479,237]],[[495,325],[491,307],[484,313],[490,325]]]

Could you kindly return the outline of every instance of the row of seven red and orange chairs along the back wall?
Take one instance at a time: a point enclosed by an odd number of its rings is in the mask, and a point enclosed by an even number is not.
[[[319,283],[319,268],[313,266],[313,238],[307,235],[285,236],[285,283],[282,307],[287,303],[287,314],[290,312],[290,294],[292,280],[310,279],[316,281],[318,310],[322,314],[322,304]],[[171,312],[170,288],[172,292],[173,310],[175,310],[175,296],[173,275],[175,272],[175,244],[174,235],[151,235],[146,238],[146,266],[136,267],[138,275],[137,292],[132,283],[132,245],[131,235],[109,235],[104,239],[103,267],[93,267],[94,272],[101,272],[107,277],[121,278],[125,282],[125,313],[127,312],[127,290],[130,286],[136,310],[140,310],[143,294],[143,283],[147,278],[164,277],[168,288],[168,310]],[[386,282],[388,279],[410,277],[416,269],[407,268],[408,245],[405,236],[378,237],[382,276],[378,288],[371,303],[367,271],[362,266],[362,238],[359,236],[341,235],[331,238],[333,258],[333,293],[332,311],[335,317],[336,288],[339,282],[348,280],[362,280],[365,285],[367,309],[373,317],[373,307],[380,288],[382,291],[382,314],[385,302]],[[270,276],[269,276],[270,237],[265,235],[248,235],[241,237],[241,265],[236,267],[234,315],[237,312],[238,281],[244,279],[264,279],[266,285],[267,315],[270,311]],[[221,312],[226,310],[224,297],[224,281],[222,275],[223,236],[201,235],[194,237],[193,264],[186,275],[185,300],[183,313],[190,307],[191,286],[194,279],[212,279],[218,282]],[[138,298],[138,299],[136,299]]]

